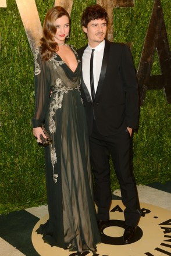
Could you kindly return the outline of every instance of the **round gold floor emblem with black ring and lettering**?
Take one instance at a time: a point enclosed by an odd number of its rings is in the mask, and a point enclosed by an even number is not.
[[[141,203],[141,219],[137,236],[131,244],[123,243],[124,206],[122,201],[113,200],[110,209],[110,223],[102,234],[102,243],[97,246],[95,256],[171,256],[171,212],[168,209]],[[45,223],[48,215],[34,226],[32,243],[41,256],[90,256],[92,253],[77,254],[63,248],[51,247],[44,243],[35,230]]]

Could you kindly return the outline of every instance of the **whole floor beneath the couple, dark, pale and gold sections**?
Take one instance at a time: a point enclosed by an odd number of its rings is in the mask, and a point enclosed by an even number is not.
[[[171,181],[137,186],[141,219],[137,237],[123,244],[124,206],[120,190],[113,193],[110,223],[102,234],[102,243],[95,256],[171,256]],[[47,205],[0,215],[1,256],[85,256],[92,253],[71,253],[43,243],[35,230],[48,219]]]

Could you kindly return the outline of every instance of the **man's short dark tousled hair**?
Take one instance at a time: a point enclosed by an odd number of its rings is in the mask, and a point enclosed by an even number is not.
[[[108,24],[108,13],[101,5],[91,5],[84,9],[81,18],[81,24],[83,27],[87,27],[91,20],[104,19],[106,24]]]

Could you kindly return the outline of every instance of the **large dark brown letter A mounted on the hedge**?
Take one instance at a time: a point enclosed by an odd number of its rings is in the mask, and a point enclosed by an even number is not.
[[[158,53],[161,74],[150,75],[155,51]],[[165,90],[168,103],[171,103],[171,56],[160,0],[154,2],[137,78],[140,86],[141,105],[143,105],[147,90],[162,88]]]

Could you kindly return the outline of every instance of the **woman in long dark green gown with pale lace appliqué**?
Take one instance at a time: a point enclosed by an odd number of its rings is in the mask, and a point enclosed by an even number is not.
[[[51,246],[96,251],[100,236],[92,199],[87,125],[80,97],[80,61],[69,37],[69,14],[60,6],[45,17],[41,47],[35,50],[33,134],[42,124],[52,137],[45,147],[49,220],[37,230]]]

